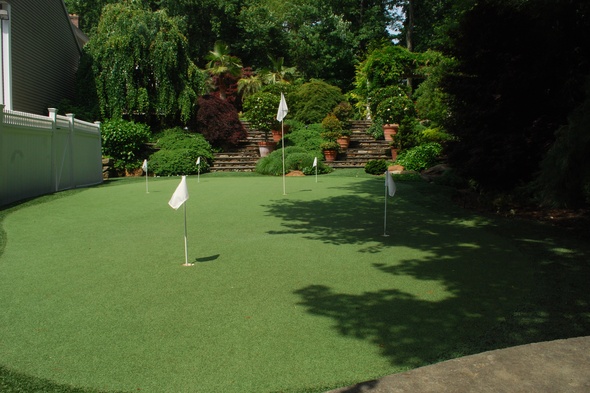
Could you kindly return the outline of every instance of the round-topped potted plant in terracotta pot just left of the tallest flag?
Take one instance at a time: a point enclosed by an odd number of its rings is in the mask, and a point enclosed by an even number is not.
[[[280,98],[271,93],[259,92],[252,94],[244,101],[244,118],[254,129],[264,134],[264,140],[258,142],[260,157],[266,157],[276,146],[275,141],[269,140],[269,134],[273,128],[278,128],[276,115],[279,100]]]

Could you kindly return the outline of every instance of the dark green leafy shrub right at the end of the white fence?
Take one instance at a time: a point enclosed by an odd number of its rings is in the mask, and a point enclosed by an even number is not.
[[[101,125],[102,154],[115,160],[116,169],[137,169],[150,129],[142,123],[110,119]]]

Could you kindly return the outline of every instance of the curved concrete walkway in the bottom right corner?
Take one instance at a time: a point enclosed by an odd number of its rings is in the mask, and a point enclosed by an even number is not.
[[[590,336],[498,349],[328,393],[589,393]]]

